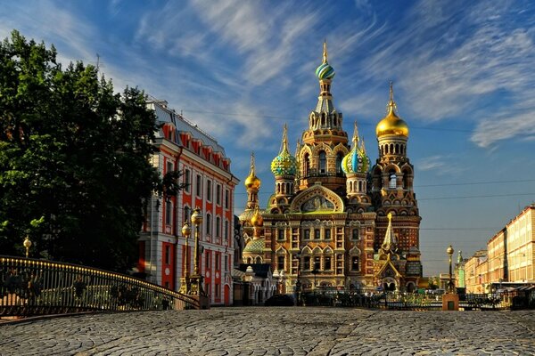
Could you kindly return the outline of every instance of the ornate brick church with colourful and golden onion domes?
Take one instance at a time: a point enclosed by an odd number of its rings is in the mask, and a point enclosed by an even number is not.
[[[317,67],[319,96],[295,155],[284,125],[271,163],[275,190],[259,205],[254,155],[239,216],[243,263],[267,263],[280,293],[336,290],[412,292],[422,278],[414,166],[407,157],[408,126],[397,112],[392,85],[386,116],[376,125],[372,166],[357,123],[352,136],[333,104],[334,69],[324,43]]]

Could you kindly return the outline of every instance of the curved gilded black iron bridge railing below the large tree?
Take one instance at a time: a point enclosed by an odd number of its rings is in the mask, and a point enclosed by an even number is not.
[[[0,255],[0,317],[183,309],[199,302],[124,274]]]

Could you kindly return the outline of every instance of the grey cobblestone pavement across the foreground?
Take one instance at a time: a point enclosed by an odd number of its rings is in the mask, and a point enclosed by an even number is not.
[[[535,311],[86,314],[0,324],[1,355],[535,355]]]

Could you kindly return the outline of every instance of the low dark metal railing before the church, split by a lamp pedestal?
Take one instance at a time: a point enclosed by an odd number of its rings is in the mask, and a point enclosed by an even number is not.
[[[523,303],[524,299],[516,291],[499,294],[459,295],[459,306],[464,310],[504,310],[514,308],[533,308]],[[318,290],[301,294],[301,300],[309,306],[363,307],[389,310],[440,311],[441,295],[413,293],[383,293],[374,290],[337,291]],[[522,302],[522,303],[520,303]]]

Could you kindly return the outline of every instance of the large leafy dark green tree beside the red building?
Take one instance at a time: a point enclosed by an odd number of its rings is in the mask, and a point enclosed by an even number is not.
[[[132,266],[144,201],[164,188],[156,129],[142,91],[62,69],[53,46],[13,31],[0,44],[0,254],[21,255],[29,234],[33,256]]]

